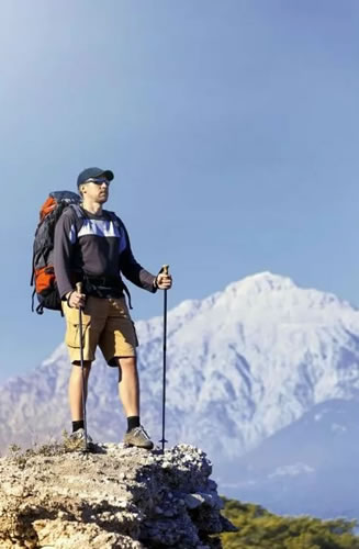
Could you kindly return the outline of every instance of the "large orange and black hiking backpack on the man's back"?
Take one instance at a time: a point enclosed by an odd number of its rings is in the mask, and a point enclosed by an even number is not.
[[[54,271],[54,236],[55,226],[66,208],[72,208],[79,219],[83,219],[80,208],[80,197],[70,191],[51,192],[40,210],[40,222],[35,232],[31,285],[34,285],[34,298],[37,295],[36,313],[43,314],[44,309],[61,311],[61,301],[57,290]]]

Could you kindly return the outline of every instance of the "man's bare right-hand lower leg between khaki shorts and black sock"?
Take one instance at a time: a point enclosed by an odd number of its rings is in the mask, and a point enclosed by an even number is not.
[[[139,382],[136,357],[123,357],[119,363],[119,395],[126,417],[139,416]]]

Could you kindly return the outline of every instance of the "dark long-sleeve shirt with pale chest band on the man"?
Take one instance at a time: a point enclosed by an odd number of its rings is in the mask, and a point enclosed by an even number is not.
[[[105,211],[101,215],[83,211],[82,219],[72,208],[64,211],[54,240],[54,268],[61,299],[74,290],[79,273],[113,280],[113,296],[123,288],[121,273],[139,288],[156,291],[156,277],[136,261],[123,222],[113,217]]]

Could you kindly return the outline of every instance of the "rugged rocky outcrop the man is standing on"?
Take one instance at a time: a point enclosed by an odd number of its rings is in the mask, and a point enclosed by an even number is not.
[[[63,447],[15,451],[0,460],[2,549],[212,548],[228,531],[201,450],[101,445],[98,453]]]

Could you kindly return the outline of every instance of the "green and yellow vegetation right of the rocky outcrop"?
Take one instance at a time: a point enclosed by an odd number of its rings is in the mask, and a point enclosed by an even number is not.
[[[222,534],[224,549],[359,549],[357,520],[278,516],[259,505],[223,497],[237,533]]]

